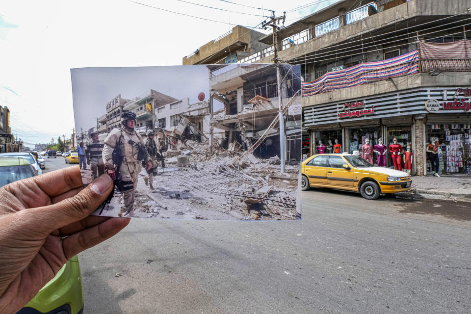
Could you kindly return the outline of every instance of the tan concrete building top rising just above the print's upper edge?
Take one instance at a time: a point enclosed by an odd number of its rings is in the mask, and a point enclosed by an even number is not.
[[[237,25],[227,33],[211,40],[183,57],[186,64],[235,63],[252,53],[269,47],[259,41],[265,34]]]

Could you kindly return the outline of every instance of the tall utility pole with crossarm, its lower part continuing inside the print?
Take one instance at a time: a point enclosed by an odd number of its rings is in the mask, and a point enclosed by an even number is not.
[[[270,17],[270,22],[262,23],[262,27],[266,26],[271,26],[273,29],[273,53],[274,53],[274,58],[273,58],[273,63],[277,64],[279,63],[278,59],[278,35],[277,31],[280,29],[280,21],[282,21],[282,24],[285,25],[285,19],[286,19],[286,12],[283,12],[282,16],[275,17],[275,11],[271,11],[272,15]],[[281,74],[280,74],[280,66],[276,66],[276,79],[277,79],[277,85],[278,85],[278,103],[279,103],[279,109],[278,109],[278,118],[279,118],[279,124],[280,124],[280,164],[281,164],[281,172],[285,172],[285,162],[286,162],[286,138],[285,138],[285,118],[283,116],[283,102],[281,98],[281,84],[282,84],[282,79],[281,79]]]

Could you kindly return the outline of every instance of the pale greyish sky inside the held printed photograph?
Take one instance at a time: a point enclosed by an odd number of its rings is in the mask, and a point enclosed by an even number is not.
[[[74,117],[77,132],[97,124],[106,113],[106,104],[118,94],[122,98],[144,97],[154,89],[176,99],[198,103],[198,94],[209,95],[208,68],[180,65],[126,68],[71,69]]]

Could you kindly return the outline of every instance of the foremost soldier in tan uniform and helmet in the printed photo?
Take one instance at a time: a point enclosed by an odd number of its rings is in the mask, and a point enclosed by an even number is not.
[[[152,167],[152,162],[147,154],[139,153],[140,147],[144,149],[141,135],[134,130],[136,125],[136,114],[124,111],[121,115],[122,129],[113,129],[105,139],[103,148],[103,161],[109,176],[113,180],[119,180],[119,186],[123,192],[122,206],[119,216],[133,216],[134,191],[137,188],[137,179],[141,171],[141,160],[147,163],[147,169]],[[113,150],[117,147],[117,154],[121,160],[119,169],[113,163]],[[138,156],[141,155],[141,156]],[[139,158],[142,158],[139,160]]]

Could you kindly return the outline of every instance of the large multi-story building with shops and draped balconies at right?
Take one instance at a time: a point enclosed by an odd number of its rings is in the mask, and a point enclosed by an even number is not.
[[[366,138],[387,146],[395,138],[411,147],[412,172],[426,175],[426,147],[438,138],[440,173],[471,172],[470,7],[340,0],[279,31],[279,59],[301,65],[304,78],[303,153],[337,139],[361,154]],[[273,51],[238,62],[272,59]]]

